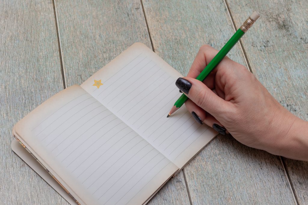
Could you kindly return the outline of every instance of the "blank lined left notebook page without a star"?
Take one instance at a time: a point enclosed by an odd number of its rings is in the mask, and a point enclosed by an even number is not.
[[[80,86],[26,118],[16,130],[85,204],[141,204],[178,169]]]

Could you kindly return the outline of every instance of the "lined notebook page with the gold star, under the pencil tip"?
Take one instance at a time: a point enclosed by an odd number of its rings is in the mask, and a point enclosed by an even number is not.
[[[181,75],[145,45],[136,43],[81,86],[178,167],[183,167],[216,132],[198,124],[182,106],[167,114],[181,93]],[[93,86],[94,80],[103,85]]]

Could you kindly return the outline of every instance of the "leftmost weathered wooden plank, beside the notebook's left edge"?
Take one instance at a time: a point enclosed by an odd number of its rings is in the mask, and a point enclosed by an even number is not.
[[[0,200],[67,204],[10,148],[14,124],[63,89],[53,5],[5,0],[0,13]]]

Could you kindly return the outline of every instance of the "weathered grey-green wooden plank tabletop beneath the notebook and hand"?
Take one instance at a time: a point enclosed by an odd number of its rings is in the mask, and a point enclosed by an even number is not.
[[[308,120],[307,0],[4,0],[0,10],[4,204],[67,204],[11,151],[12,127],[137,41],[186,75],[201,45],[220,49],[257,10],[261,18],[228,56]],[[219,135],[149,204],[308,204],[308,162]]]

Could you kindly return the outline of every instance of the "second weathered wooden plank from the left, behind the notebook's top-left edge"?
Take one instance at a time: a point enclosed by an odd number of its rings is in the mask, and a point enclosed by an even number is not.
[[[66,85],[81,84],[135,42],[151,47],[140,1],[56,2]],[[181,172],[150,204],[188,204]]]

